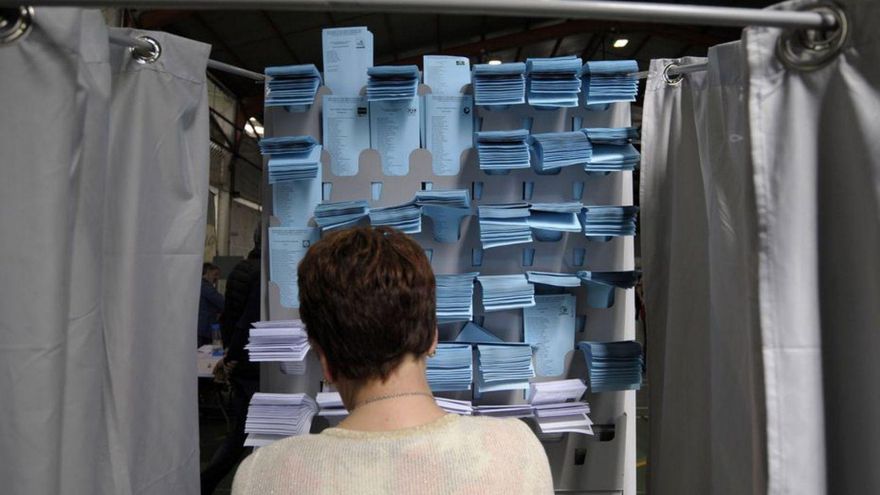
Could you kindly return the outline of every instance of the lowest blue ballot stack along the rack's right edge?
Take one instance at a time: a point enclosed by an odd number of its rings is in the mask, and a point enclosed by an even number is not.
[[[638,342],[578,342],[578,349],[587,360],[593,392],[641,388],[644,359]]]

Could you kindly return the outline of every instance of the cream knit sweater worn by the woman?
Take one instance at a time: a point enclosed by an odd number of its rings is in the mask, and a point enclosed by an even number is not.
[[[448,414],[415,428],[329,428],[263,447],[233,495],[552,494],[547,455],[516,419]]]

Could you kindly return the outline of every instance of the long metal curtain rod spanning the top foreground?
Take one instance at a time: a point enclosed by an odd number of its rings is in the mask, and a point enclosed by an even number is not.
[[[0,0],[0,6],[18,6],[21,0]],[[623,1],[574,0],[33,0],[37,6],[84,6],[171,9],[262,9],[356,11],[387,13],[479,14],[638,21],[706,26],[771,26],[830,29],[837,18],[828,11],[783,11],[703,5],[672,5]]]

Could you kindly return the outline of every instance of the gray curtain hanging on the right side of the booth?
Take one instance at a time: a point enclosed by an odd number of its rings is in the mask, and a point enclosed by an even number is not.
[[[880,493],[880,5],[842,3],[851,37],[817,70],[771,28],[680,86],[652,64],[651,493]]]

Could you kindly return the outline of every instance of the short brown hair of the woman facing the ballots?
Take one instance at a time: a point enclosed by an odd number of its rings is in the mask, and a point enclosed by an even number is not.
[[[336,375],[385,380],[431,348],[435,282],[421,246],[389,227],[333,232],[299,264],[300,317]]]

